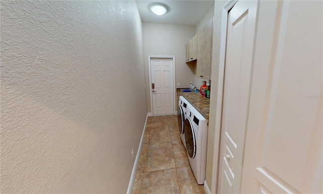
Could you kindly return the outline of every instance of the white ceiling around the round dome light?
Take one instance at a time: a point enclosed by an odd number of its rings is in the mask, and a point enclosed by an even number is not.
[[[136,3],[142,22],[196,26],[204,14],[214,4],[214,0],[136,0]],[[164,4],[168,8],[168,12],[162,16],[153,14],[148,8],[152,3]]]

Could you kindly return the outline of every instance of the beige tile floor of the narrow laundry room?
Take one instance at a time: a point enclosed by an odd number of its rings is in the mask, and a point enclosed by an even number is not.
[[[148,117],[132,193],[203,193],[182,144],[177,115]]]

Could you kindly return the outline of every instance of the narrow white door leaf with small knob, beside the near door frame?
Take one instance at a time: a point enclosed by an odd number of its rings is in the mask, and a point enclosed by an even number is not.
[[[249,105],[257,1],[228,15],[218,193],[239,193]]]

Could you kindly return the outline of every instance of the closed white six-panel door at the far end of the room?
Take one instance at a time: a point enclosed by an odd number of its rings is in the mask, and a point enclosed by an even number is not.
[[[153,115],[173,114],[173,59],[151,58],[150,66]]]

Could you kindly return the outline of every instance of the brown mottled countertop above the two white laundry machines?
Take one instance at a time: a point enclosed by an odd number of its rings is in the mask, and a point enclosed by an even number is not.
[[[184,96],[184,98],[196,108],[205,118],[208,119],[210,111],[210,99],[205,98],[199,92],[182,92],[180,88],[177,88],[177,94]]]

